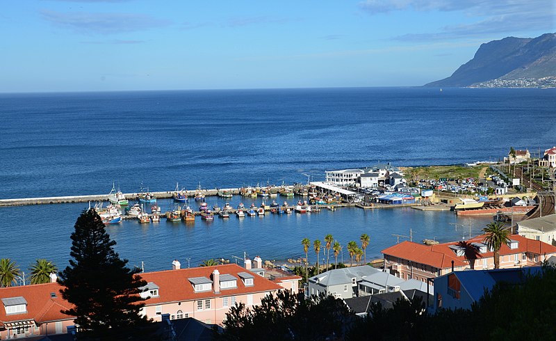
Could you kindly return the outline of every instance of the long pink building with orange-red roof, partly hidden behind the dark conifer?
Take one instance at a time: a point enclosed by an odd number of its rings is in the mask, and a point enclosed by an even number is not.
[[[236,264],[180,269],[174,260],[172,270],[141,273],[147,281],[141,296],[148,298],[142,313],[155,322],[167,313],[170,319],[221,324],[235,303],[256,306],[278,290],[297,292],[299,276],[265,269],[260,257],[254,259],[256,268],[250,260],[245,263],[247,269]],[[60,312],[71,306],[61,298],[60,288],[58,283],[0,288],[0,340],[67,333],[74,318]]]

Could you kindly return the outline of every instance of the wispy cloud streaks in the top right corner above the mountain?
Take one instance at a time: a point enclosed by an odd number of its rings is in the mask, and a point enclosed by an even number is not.
[[[556,1],[553,0],[366,0],[359,8],[370,15],[409,10],[414,12],[459,11],[474,22],[440,27],[438,31],[406,34],[395,40],[445,40],[475,38],[489,33],[553,31]],[[473,20],[473,19],[472,19]]]

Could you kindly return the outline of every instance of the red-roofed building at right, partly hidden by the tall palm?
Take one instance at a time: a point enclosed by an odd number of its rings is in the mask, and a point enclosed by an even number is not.
[[[556,246],[531,240],[520,235],[511,235],[509,246],[500,248],[500,269],[531,267],[556,255]],[[479,251],[475,260],[475,270],[494,269],[494,253],[484,244],[484,235],[468,239]],[[384,267],[403,279],[414,278],[425,282],[427,278],[435,278],[454,271],[471,268],[464,256],[464,249],[457,241],[432,246],[403,241],[382,251]]]

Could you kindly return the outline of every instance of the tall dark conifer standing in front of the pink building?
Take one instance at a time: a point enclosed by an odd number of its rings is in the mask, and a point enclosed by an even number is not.
[[[74,308],[63,313],[75,316],[80,339],[150,339],[149,322],[139,315],[145,299],[139,296],[146,285],[137,275],[140,269],[126,267],[114,251],[115,241],[104,229],[94,209],[81,213],[72,233],[70,266],[60,273],[58,282],[65,300]]]

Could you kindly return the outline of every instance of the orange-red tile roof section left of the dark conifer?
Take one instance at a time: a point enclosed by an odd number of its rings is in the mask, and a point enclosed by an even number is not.
[[[2,299],[22,296],[27,301],[26,313],[10,315],[6,315],[6,309],[0,301],[0,325],[6,322],[27,320],[35,320],[35,322],[40,324],[43,322],[74,319],[74,317],[60,312],[60,310],[66,310],[72,307],[70,303],[62,299],[60,288],[61,286],[58,285],[58,283],[0,288],[0,298]],[[51,298],[50,294],[52,292],[56,294],[56,298]]]

